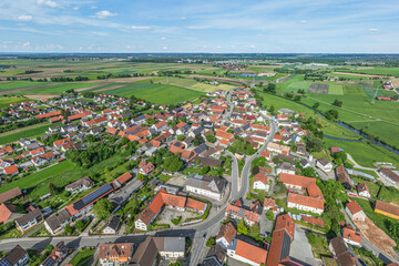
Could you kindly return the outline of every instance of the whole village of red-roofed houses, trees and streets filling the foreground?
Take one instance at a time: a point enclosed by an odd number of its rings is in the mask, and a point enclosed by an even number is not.
[[[35,264],[45,266],[66,264],[80,248],[99,265],[355,266],[375,257],[397,265],[397,236],[357,202],[397,223],[399,207],[370,192],[377,178],[347,167],[338,146],[327,156],[334,161],[315,157],[318,122],[270,112],[249,88],[173,106],[71,91],[3,112],[6,123],[49,127],[0,149],[1,234],[16,239],[1,265],[35,262],[40,255],[28,252],[35,238],[51,239]],[[101,166],[116,155],[116,165]],[[66,163],[83,170],[58,175]],[[94,164],[104,172],[84,171]],[[24,185],[32,175],[40,187]],[[377,177],[399,186],[389,167]]]

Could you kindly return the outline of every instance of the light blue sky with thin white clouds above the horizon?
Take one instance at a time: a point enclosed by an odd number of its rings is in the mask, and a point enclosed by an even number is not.
[[[0,52],[399,53],[398,0],[0,0]]]

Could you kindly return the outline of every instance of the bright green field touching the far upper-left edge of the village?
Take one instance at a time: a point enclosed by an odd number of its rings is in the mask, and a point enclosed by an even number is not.
[[[104,93],[126,98],[135,95],[145,101],[166,105],[177,102],[192,101],[201,95],[204,95],[203,92],[156,83],[137,83],[134,85],[105,91]]]

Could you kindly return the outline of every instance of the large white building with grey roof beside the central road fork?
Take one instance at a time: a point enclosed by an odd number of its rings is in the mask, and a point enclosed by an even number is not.
[[[208,198],[221,201],[226,190],[226,181],[217,176],[205,175],[191,177],[186,183],[186,191]]]

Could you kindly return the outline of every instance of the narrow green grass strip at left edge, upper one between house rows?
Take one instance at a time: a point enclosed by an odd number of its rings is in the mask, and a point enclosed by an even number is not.
[[[55,124],[53,124],[55,125]],[[29,125],[18,130],[4,132],[0,134],[0,144],[19,141],[21,137],[32,139],[43,135],[49,130],[50,122],[43,122],[34,125]]]

